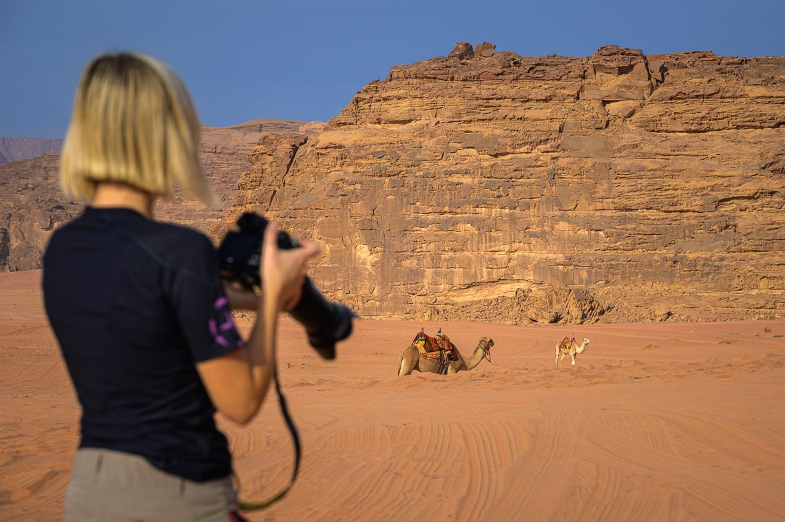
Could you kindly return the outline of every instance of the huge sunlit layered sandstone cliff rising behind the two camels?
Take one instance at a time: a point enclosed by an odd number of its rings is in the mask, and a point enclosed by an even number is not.
[[[318,239],[316,283],[363,316],[781,317],[783,149],[783,57],[464,42],[262,139],[228,215]]]

